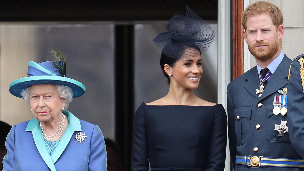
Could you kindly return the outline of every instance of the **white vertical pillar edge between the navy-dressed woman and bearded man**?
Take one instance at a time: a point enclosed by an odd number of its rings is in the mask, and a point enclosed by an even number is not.
[[[217,102],[227,111],[226,87],[230,82],[231,33],[230,0],[218,0],[218,91]],[[230,171],[230,153],[227,138],[225,171]]]

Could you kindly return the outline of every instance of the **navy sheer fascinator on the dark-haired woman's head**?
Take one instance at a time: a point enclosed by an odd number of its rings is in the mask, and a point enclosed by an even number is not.
[[[160,33],[153,39],[162,53],[180,59],[195,57],[211,46],[215,37],[211,26],[186,6],[186,16],[175,14],[167,23],[167,32]],[[200,52],[191,51],[195,48]]]

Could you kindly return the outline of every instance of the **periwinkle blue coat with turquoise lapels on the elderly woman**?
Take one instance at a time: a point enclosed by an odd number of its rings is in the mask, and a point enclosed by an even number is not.
[[[16,124],[6,138],[7,154],[3,171],[21,170],[94,170],[107,171],[105,141],[97,125],[79,120],[69,111],[69,125],[53,154],[47,151],[39,121],[35,118]],[[75,142],[75,134],[85,133],[86,141]]]

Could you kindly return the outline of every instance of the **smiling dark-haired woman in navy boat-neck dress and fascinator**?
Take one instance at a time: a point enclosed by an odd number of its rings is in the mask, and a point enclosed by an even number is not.
[[[214,31],[189,7],[169,20],[154,42],[163,49],[161,68],[170,84],[161,99],[142,103],[133,125],[132,171],[223,171],[226,113],[221,104],[195,96],[203,69],[201,52]]]

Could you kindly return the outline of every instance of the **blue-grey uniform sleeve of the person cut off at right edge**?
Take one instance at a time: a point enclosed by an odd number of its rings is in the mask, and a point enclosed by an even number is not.
[[[301,58],[304,58],[304,54],[298,55],[291,64],[287,91],[287,120],[291,143],[304,158],[304,93],[299,62]]]

